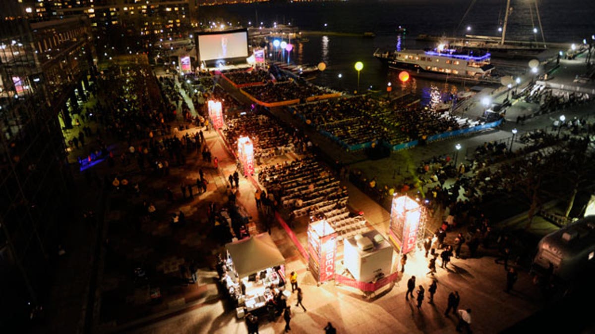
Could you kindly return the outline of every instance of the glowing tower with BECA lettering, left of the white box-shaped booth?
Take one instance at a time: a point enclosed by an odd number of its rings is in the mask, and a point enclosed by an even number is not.
[[[334,279],[337,233],[326,220],[308,225],[308,267],[318,283]]]

